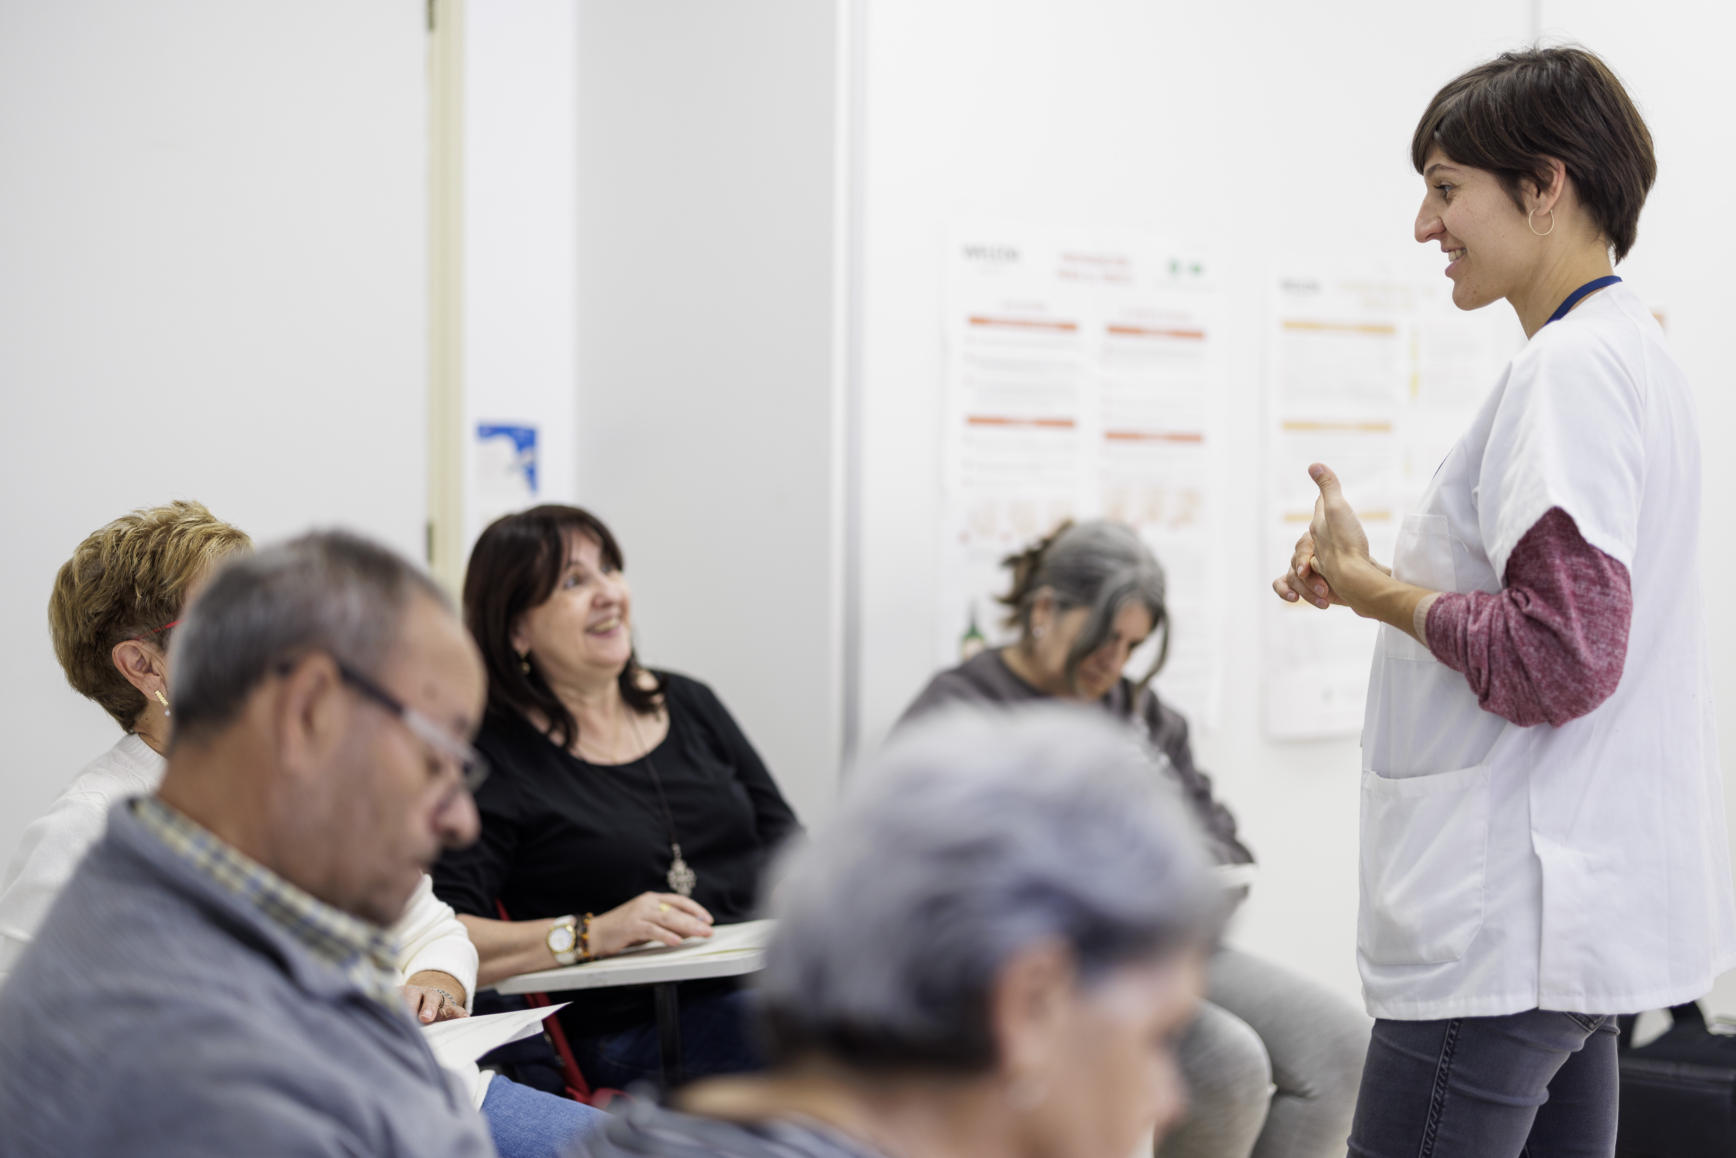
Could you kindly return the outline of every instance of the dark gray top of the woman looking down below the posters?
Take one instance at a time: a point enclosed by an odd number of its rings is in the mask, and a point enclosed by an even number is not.
[[[927,715],[948,703],[1021,703],[1049,696],[1019,679],[998,649],[979,651],[955,668],[941,672],[922,694],[904,708],[899,724]],[[1193,806],[1205,830],[1212,852],[1222,865],[1246,865],[1253,854],[1236,835],[1236,818],[1212,795],[1212,778],[1194,767],[1193,745],[1187,741],[1187,720],[1168,705],[1158,701],[1158,693],[1146,688],[1134,694],[1134,681],[1125,675],[1116,681],[1102,707],[1121,717],[1137,717],[1151,736],[1151,745],[1170,759],[1175,780]]]

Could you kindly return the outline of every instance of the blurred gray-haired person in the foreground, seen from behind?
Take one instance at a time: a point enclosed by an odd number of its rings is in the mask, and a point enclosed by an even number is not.
[[[1127,1158],[1186,1101],[1172,1043],[1224,908],[1189,828],[1076,708],[911,729],[783,865],[774,1068],[635,1102],[582,1153]]]

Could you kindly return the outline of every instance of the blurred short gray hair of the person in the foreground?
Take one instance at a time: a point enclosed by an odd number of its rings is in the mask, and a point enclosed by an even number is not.
[[[1226,911],[1149,750],[1068,705],[911,726],[776,877],[773,1056],[859,1069],[990,1069],[990,991],[1023,948],[1062,941],[1088,986],[1207,943]]]

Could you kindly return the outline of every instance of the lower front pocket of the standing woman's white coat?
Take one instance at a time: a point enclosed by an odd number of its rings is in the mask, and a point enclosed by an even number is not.
[[[1457,962],[1483,927],[1489,766],[1363,773],[1356,946],[1375,965]]]

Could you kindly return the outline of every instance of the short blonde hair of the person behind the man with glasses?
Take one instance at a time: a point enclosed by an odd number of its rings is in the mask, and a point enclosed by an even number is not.
[[[66,682],[132,731],[146,700],[115,667],[115,644],[142,637],[167,653],[163,627],[181,618],[193,580],[252,545],[247,531],[184,498],[94,531],[61,564],[49,595],[54,658]]]

